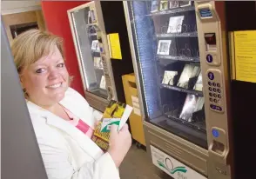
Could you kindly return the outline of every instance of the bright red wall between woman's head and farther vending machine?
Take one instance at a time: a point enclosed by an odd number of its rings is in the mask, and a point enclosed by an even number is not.
[[[84,88],[80,76],[79,66],[77,63],[77,55],[71,35],[71,27],[67,15],[70,10],[78,5],[88,3],[84,1],[42,1],[42,10],[47,30],[57,36],[64,38],[64,50],[66,58],[66,66],[74,80],[71,88],[76,89],[84,96]]]

